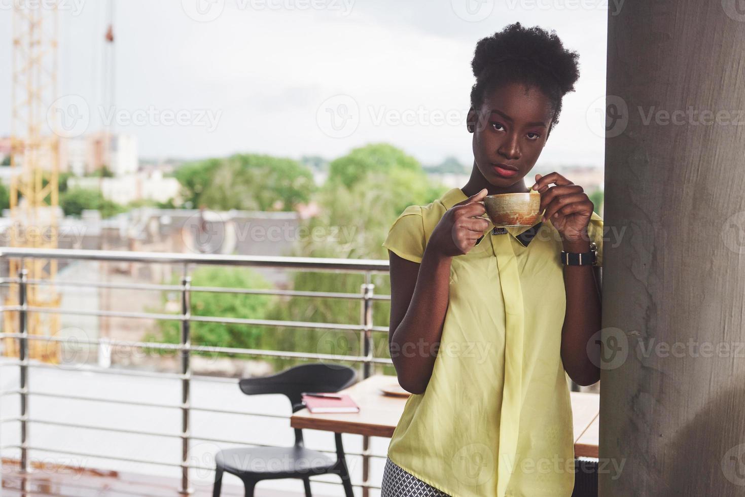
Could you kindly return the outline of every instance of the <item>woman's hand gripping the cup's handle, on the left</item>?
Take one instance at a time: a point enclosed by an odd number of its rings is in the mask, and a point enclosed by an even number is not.
[[[486,193],[482,189],[448,209],[432,230],[427,248],[447,257],[469,253],[489,228],[489,221],[479,217],[486,213],[483,201]]]

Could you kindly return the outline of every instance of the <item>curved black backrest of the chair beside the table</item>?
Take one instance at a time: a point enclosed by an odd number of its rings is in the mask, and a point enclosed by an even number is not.
[[[292,411],[302,408],[302,392],[338,392],[357,382],[357,371],[340,364],[300,364],[276,375],[244,378],[238,382],[246,395],[282,393],[290,399]]]

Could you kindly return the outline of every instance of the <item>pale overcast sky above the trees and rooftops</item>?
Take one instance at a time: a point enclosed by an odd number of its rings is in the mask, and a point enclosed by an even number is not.
[[[25,0],[40,7],[48,0]],[[11,0],[0,0],[0,136],[10,133]],[[334,159],[390,142],[472,163],[465,116],[478,39],[512,22],[580,54],[539,165],[603,165],[606,0],[60,0],[63,133],[110,125],[143,158]],[[104,88],[113,63],[112,96]],[[599,103],[600,102],[600,103]]]

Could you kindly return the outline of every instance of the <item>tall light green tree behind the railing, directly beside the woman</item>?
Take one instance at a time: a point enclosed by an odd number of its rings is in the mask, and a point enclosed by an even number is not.
[[[373,165],[373,166],[370,166]],[[370,167],[368,167],[370,166]],[[390,224],[410,205],[425,205],[440,197],[444,188],[432,184],[419,162],[391,145],[358,148],[332,162],[335,172],[319,192],[320,215],[306,221],[308,232],[326,236],[308,237],[297,244],[297,256],[341,259],[387,259],[381,247]],[[359,169],[358,169],[359,168]],[[349,273],[297,273],[292,287],[300,291],[333,291],[359,294],[364,277]],[[375,294],[389,294],[387,275],[375,275]],[[390,304],[373,304],[375,326],[387,326]],[[292,297],[279,301],[270,311],[278,320],[359,324],[358,300]],[[302,334],[278,329],[273,334],[282,350],[313,353],[361,353],[358,332],[314,330]],[[377,357],[387,356],[387,336],[373,333]],[[294,364],[285,361],[284,367]],[[393,373],[393,370],[386,370]]]

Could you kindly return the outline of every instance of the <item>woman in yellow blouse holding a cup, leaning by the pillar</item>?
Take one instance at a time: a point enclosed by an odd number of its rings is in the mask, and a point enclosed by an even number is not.
[[[602,220],[557,173],[528,183],[545,209],[533,227],[492,230],[481,216],[486,194],[530,191],[524,177],[574,91],[577,58],[553,31],[519,23],[481,39],[471,177],[390,228],[390,353],[413,395],[383,497],[571,495],[565,373],[581,385],[600,377]],[[584,264],[565,265],[562,251],[586,254]]]

